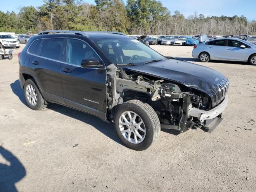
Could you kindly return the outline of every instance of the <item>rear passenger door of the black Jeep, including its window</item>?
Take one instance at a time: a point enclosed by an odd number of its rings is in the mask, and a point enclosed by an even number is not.
[[[61,104],[65,104],[60,79],[63,48],[64,38],[44,39],[40,54],[34,56],[30,64],[30,71],[37,78],[44,97]]]

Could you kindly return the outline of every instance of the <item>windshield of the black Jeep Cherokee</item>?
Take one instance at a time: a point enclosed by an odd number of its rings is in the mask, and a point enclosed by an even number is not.
[[[143,64],[152,60],[166,60],[164,56],[135,39],[96,39],[94,42],[114,64]]]

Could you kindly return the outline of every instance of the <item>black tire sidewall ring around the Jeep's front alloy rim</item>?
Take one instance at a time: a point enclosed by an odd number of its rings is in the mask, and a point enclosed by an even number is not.
[[[138,114],[145,125],[146,128],[146,136],[144,138],[144,140],[139,143],[139,144],[133,144],[128,142],[124,136],[122,135],[120,129],[119,129],[119,118],[121,116],[121,114],[125,111],[133,111],[136,114]],[[121,104],[120,106],[118,106],[118,109],[116,111],[115,114],[115,120],[114,120],[114,125],[116,128],[116,133],[118,134],[118,137],[120,138],[120,140],[122,140],[122,142],[130,149],[133,150],[145,150],[146,148],[148,148],[153,141],[154,138],[154,132],[153,132],[153,126],[152,124],[150,124],[150,121],[148,121],[147,119],[150,118],[146,113],[143,112],[142,108],[140,108],[139,106],[132,104],[132,103],[124,103]]]

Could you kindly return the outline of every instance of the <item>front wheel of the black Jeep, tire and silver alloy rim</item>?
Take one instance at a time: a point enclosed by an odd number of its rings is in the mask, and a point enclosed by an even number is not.
[[[156,112],[139,100],[120,104],[114,124],[120,140],[133,150],[147,149],[160,136],[160,121]]]

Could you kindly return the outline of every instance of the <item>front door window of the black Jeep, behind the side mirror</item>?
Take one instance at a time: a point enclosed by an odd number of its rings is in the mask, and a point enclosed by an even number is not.
[[[111,48],[110,48],[111,52]],[[83,41],[77,39],[68,39],[67,52],[66,52],[66,63],[81,66],[83,59],[97,58],[100,60],[98,55]]]

